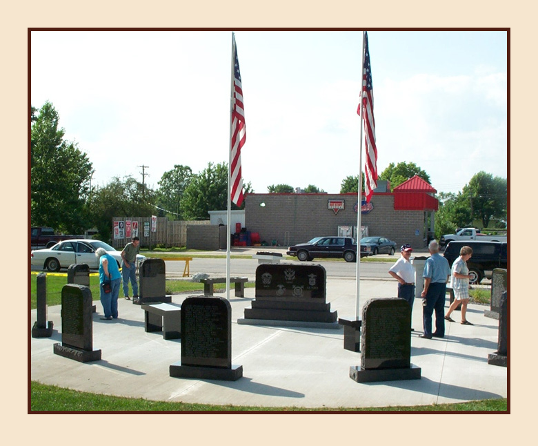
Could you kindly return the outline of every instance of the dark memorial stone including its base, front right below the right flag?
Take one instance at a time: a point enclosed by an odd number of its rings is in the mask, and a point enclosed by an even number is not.
[[[370,299],[362,312],[361,366],[350,367],[357,382],[420,379],[411,364],[411,308],[398,298]]]

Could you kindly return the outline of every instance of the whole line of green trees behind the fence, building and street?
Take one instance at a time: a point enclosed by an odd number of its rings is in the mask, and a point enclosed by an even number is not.
[[[110,239],[112,217],[157,215],[171,220],[206,219],[208,211],[228,205],[228,164],[208,163],[199,173],[176,164],[163,173],[153,190],[132,176],[112,177],[105,186],[91,187],[94,173],[88,155],[78,144],[65,140],[59,128],[59,113],[50,102],[31,108],[30,215],[32,226],[51,226],[57,231],[81,234],[96,227],[99,237]],[[429,175],[415,163],[390,163],[379,175],[395,188],[408,178]],[[358,175],[341,182],[340,193],[357,193]],[[253,193],[250,182],[246,193]],[[309,184],[301,193],[324,193]],[[268,193],[295,193],[288,184],[272,184]],[[484,227],[506,224],[506,179],[477,173],[458,194],[440,193],[436,213],[436,235],[480,220]],[[232,209],[242,209],[232,204]]]

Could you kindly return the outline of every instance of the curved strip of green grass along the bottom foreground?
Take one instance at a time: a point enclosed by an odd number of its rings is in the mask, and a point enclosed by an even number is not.
[[[468,403],[441,404],[428,406],[395,407],[257,407],[235,405],[206,405],[191,403],[170,403],[143,398],[124,398],[90,394],[61,387],[31,383],[31,411],[495,411],[507,412],[506,398],[470,401]]]

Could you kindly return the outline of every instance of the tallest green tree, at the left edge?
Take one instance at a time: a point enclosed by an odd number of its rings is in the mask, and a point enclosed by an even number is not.
[[[66,132],[59,128],[59,114],[50,102],[39,111],[32,107],[30,119],[31,224],[82,233],[88,229],[84,209],[92,163],[77,144],[63,139]]]

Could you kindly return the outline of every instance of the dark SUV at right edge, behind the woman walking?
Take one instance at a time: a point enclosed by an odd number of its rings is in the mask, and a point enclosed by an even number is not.
[[[476,242],[465,240],[462,242],[450,242],[445,249],[445,258],[450,266],[459,257],[461,246],[470,246],[472,256],[467,262],[469,273],[473,277],[469,280],[472,284],[478,284],[483,278],[491,278],[494,268],[508,269],[508,244],[504,242]]]

